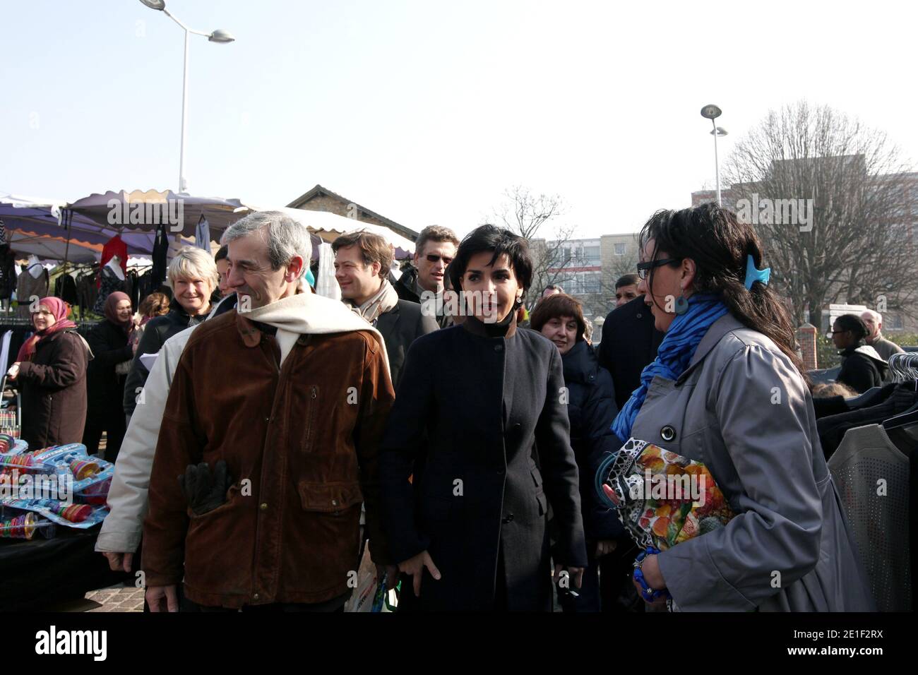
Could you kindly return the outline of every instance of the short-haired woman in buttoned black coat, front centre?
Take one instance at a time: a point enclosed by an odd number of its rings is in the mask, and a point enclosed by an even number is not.
[[[579,588],[587,564],[561,356],[517,330],[532,279],[521,237],[481,226],[449,274],[465,321],[411,344],[380,450],[399,609],[551,611],[548,501],[559,586]]]

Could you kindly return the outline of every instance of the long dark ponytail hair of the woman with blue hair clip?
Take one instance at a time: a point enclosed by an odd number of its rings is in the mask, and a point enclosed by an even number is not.
[[[767,335],[806,379],[788,310],[775,291],[760,281],[753,282],[751,289],[745,287],[747,256],[752,255],[756,269],[763,267],[762,246],[751,225],[709,203],[680,211],[657,211],[641,230],[641,248],[651,239],[654,258],[663,251],[667,257],[695,261],[692,288],[698,293],[720,295],[737,321]],[[653,270],[647,287],[652,283]]]

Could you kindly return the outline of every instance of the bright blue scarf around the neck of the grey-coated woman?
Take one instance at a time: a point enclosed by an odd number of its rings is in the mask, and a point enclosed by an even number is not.
[[[689,309],[685,314],[677,314],[676,319],[669,324],[655,360],[641,372],[641,386],[634,389],[632,398],[628,399],[612,422],[612,432],[619,437],[621,444],[631,438],[634,420],[644,405],[647,389],[654,377],[658,375],[675,380],[682,375],[689,367],[704,333],[726,313],[726,305],[716,295],[695,294],[689,298]]]

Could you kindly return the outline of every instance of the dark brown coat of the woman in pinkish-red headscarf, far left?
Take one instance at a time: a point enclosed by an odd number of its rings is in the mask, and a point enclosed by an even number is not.
[[[70,330],[39,340],[32,360],[19,364],[21,436],[29,450],[83,441],[88,361],[86,343]]]

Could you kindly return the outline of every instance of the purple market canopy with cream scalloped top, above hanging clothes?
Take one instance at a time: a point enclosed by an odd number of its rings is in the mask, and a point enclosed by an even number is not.
[[[170,234],[181,231],[185,237],[194,237],[197,223],[204,216],[210,227],[210,238],[217,242],[220,234],[230,224],[245,215],[236,212],[241,206],[239,199],[196,197],[176,194],[172,190],[121,190],[94,193],[77,199],[66,208],[106,231],[133,232],[146,236],[151,242],[150,249],[136,253],[151,253],[152,238],[160,223],[167,225]],[[121,234],[121,239],[128,241],[125,234]],[[128,246],[130,251],[130,244]]]

